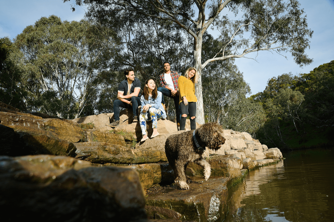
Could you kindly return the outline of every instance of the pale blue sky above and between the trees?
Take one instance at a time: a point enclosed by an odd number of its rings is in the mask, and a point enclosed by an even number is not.
[[[268,79],[283,73],[309,73],[315,67],[334,60],[334,0],[299,0],[301,8],[307,15],[309,28],[314,31],[311,48],[306,54],[314,59],[311,65],[300,68],[294,63],[289,53],[287,59],[272,52],[248,54],[246,58],[238,58],[235,64],[243,72],[244,79],[252,89],[252,94],[263,91]],[[62,20],[79,21],[85,14],[85,8],[75,7],[71,11],[70,2],[62,0],[0,0],[0,38],[10,39],[20,34],[25,27],[33,25],[43,16],[57,15]],[[255,61],[256,59],[257,61]]]

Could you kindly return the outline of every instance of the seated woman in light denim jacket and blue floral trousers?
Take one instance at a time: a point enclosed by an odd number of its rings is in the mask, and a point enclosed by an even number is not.
[[[148,120],[148,114],[152,120],[153,134],[151,138],[159,135],[157,130],[158,119],[166,118],[166,112],[161,104],[162,93],[157,91],[155,81],[153,79],[147,79],[145,81],[143,95],[140,97],[142,103],[142,110],[139,115],[140,127],[142,129],[143,139],[141,142],[148,139],[146,135],[146,120]]]

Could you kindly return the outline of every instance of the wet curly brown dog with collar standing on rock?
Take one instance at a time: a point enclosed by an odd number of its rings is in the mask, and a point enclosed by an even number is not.
[[[181,189],[189,189],[185,170],[188,163],[195,162],[204,168],[204,179],[207,181],[211,174],[210,164],[203,159],[205,147],[218,150],[225,142],[222,136],[223,129],[216,123],[205,123],[195,130],[171,135],[165,143],[165,152],[168,162],[176,176],[175,183]],[[197,144],[196,144],[197,143]]]

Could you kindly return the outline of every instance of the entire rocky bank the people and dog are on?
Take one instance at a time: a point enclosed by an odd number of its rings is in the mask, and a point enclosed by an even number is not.
[[[0,103],[4,214],[64,221],[221,221],[228,188],[249,170],[283,158],[278,148],[268,149],[246,132],[224,130],[225,144],[204,153],[209,180],[190,163],[191,189],[179,190],[164,150],[167,137],[180,133],[176,124],[159,120],[160,135],[138,143],[139,123],[129,122],[127,110],[119,127],[105,126],[112,119],[107,113],[66,120]]]

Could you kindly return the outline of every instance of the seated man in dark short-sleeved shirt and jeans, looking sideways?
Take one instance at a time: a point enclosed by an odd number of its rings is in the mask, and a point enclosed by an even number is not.
[[[135,72],[132,68],[124,71],[126,77],[118,86],[117,99],[114,101],[114,121],[106,124],[110,127],[116,127],[120,124],[120,107],[133,110],[133,122],[137,122],[138,105],[140,102],[140,80],[135,78]]]

